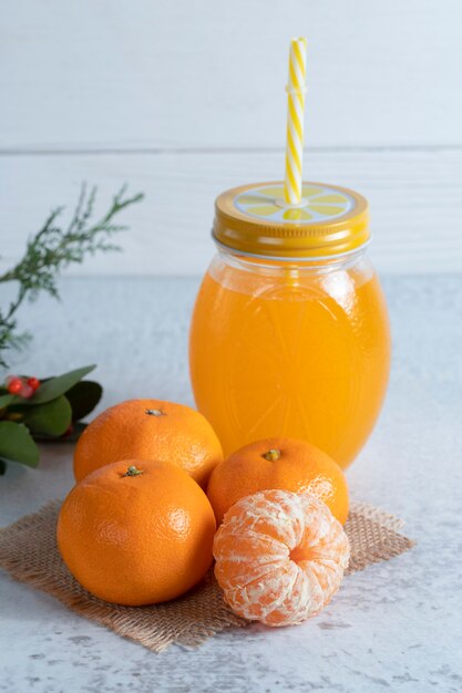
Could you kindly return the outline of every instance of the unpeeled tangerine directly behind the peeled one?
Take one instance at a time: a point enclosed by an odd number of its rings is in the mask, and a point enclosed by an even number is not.
[[[213,470],[207,496],[219,524],[239,498],[280,488],[320,498],[342,524],[348,517],[348,486],[329,455],[306,441],[267,438],[245,445]]]

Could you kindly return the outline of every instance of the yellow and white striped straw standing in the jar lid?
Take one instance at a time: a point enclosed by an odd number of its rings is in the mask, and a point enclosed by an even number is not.
[[[292,39],[289,53],[286,176],[284,196],[288,205],[301,200],[301,168],[304,158],[304,114],[307,40]]]

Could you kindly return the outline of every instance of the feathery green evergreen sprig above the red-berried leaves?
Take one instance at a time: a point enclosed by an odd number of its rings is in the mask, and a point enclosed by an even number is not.
[[[114,195],[105,215],[91,221],[96,198],[96,188],[86,192],[82,185],[81,194],[73,217],[68,228],[61,228],[59,217],[63,207],[54,209],[43,227],[27,244],[21,260],[10,270],[0,276],[0,282],[17,282],[16,298],[8,308],[0,308],[0,366],[7,366],[6,351],[23,346],[30,339],[29,334],[18,332],[17,311],[21,303],[33,301],[39,293],[50,293],[59,298],[58,277],[61,271],[73,263],[83,262],[88,256],[109,250],[119,250],[112,237],[127,227],[115,224],[114,218],[125,207],[143,199],[142,194],[125,197],[125,186]]]

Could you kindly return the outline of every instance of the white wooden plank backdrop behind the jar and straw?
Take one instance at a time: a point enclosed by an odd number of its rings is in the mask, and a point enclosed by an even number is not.
[[[127,182],[124,252],[198,273],[213,200],[283,176],[288,41],[309,40],[306,178],[372,207],[377,266],[462,270],[461,0],[0,0],[0,232],[13,262],[80,183]]]

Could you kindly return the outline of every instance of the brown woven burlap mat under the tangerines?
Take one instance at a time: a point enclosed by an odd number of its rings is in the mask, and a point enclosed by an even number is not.
[[[164,604],[117,607],[92,597],[74,580],[59,555],[54,535],[60,505],[59,500],[51,501],[0,529],[0,567],[17,580],[53,594],[81,616],[153,652],[162,652],[172,643],[196,647],[225,628],[247,625],[223,601],[212,570],[193,591]],[[347,575],[410,549],[413,542],[397,531],[401,526],[392,515],[352,505],[345,527],[351,542]]]

